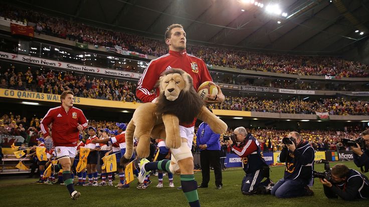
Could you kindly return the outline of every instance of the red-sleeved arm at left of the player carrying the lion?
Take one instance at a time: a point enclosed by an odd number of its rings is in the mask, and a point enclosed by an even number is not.
[[[160,75],[157,74],[155,65],[156,62],[151,60],[143,71],[142,77],[138,80],[136,96],[143,102],[151,102],[156,98],[156,94],[150,93]]]

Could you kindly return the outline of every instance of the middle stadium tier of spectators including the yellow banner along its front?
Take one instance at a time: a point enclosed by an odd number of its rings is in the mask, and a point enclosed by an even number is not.
[[[134,103],[140,102],[135,96],[137,80],[126,81],[109,76],[73,71],[63,72],[60,69],[55,70],[37,66],[31,68],[21,63],[11,64],[10,62],[0,61],[0,66],[2,67],[0,97],[3,98],[60,103],[59,94],[64,90],[72,90],[75,96],[79,97],[75,101],[77,104],[134,109],[137,106]],[[363,118],[361,120],[367,120],[369,117],[368,101],[357,97],[312,97],[310,95],[310,97],[305,98],[306,95],[298,96],[298,94],[293,97],[289,97],[288,94],[276,97],[274,94],[268,96],[258,95],[257,93],[252,95],[233,94],[226,92],[226,90],[224,93],[226,94],[226,100],[221,104],[212,105],[214,109],[225,111],[223,115],[240,115],[243,112],[251,111],[255,114],[249,113],[247,115],[245,113],[245,116],[273,117],[273,113],[276,113],[280,116],[281,114],[291,114],[292,116],[305,114],[307,118],[316,118],[315,112],[317,111],[328,112],[333,117],[336,115],[337,119],[338,116],[349,115],[360,116],[360,118]],[[128,102],[131,103],[128,104]],[[265,114],[265,112],[270,114]],[[221,112],[218,114],[221,114]],[[288,118],[288,116],[285,118]],[[340,117],[340,119],[342,118]]]

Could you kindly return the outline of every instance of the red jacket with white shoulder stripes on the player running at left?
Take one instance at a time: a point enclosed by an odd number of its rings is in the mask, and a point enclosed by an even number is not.
[[[81,124],[83,129],[88,126],[87,119],[81,109],[71,107],[67,113],[63,106],[50,108],[40,123],[41,131],[45,137],[50,135],[48,126],[53,123],[51,132],[54,146],[77,146],[78,124]]]

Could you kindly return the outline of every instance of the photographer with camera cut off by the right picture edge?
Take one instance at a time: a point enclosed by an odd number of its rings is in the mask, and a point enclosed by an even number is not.
[[[355,143],[356,147],[351,146],[353,162],[361,168],[362,172],[367,172],[369,170],[369,128],[361,132],[361,135],[362,138],[358,141],[361,143]]]

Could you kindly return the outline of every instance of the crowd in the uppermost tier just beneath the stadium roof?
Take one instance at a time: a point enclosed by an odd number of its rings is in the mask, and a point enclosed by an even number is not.
[[[96,28],[77,21],[52,17],[44,13],[15,8],[5,4],[0,7],[0,16],[33,25],[37,33],[91,43],[97,46],[113,47],[118,45],[124,49],[154,56],[160,56],[167,52],[167,46],[162,40]],[[299,75],[342,77],[367,77],[369,75],[368,65],[339,57],[266,54],[203,45],[188,45],[187,51],[204,59],[208,66],[219,65]]]

